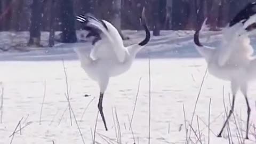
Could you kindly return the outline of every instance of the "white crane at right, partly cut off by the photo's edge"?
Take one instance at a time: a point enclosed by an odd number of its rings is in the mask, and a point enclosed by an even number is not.
[[[209,73],[215,77],[230,81],[233,100],[231,110],[223,124],[218,137],[233,114],[235,98],[241,90],[247,105],[247,124],[245,138],[249,139],[249,121],[251,108],[247,98],[248,83],[256,78],[256,58],[252,57],[253,47],[250,44],[249,34],[256,29],[256,3],[249,3],[240,11],[229,25],[223,29],[223,37],[219,47],[204,46],[199,42],[199,31],[206,26],[206,20],[194,35],[196,50],[207,62]]]

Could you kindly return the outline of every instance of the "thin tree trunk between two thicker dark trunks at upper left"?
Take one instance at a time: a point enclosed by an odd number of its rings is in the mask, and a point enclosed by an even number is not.
[[[54,14],[54,10],[55,10],[55,0],[51,0],[49,47],[54,46],[54,35],[55,35],[55,29],[54,29],[55,14]]]

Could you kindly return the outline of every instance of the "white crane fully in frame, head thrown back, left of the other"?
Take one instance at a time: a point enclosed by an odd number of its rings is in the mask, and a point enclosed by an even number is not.
[[[99,20],[92,14],[78,15],[77,21],[84,24],[88,31],[87,38],[93,37],[93,48],[90,54],[85,49],[76,48],[75,52],[81,61],[81,67],[87,75],[98,82],[100,87],[100,98],[98,109],[106,131],[107,124],[103,114],[102,101],[107,89],[109,78],[123,74],[129,70],[135,59],[135,55],[149,42],[150,31],[147,26],[145,9],[141,14],[141,25],[146,31],[146,38],[138,44],[125,47],[117,29],[106,20]]]

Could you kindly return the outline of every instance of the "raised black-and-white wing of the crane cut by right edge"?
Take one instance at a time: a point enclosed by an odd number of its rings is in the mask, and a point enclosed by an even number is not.
[[[248,57],[253,54],[253,47],[248,35],[256,28],[255,22],[256,3],[249,3],[223,29],[223,38],[218,51],[219,66],[225,65],[231,57]]]

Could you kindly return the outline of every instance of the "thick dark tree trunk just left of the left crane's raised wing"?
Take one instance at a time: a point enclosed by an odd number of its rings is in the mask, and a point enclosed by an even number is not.
[[[62,0],[60,2],[60,17],[61,17],[61,39],[62,43],[77,42],[75,30],[75,15],[73,11],[72,0]]]

